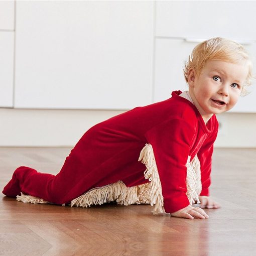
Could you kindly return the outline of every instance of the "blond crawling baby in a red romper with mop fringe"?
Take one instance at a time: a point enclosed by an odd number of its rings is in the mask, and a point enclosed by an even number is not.
[[[215,114],[236,104],[251,72],[241,45],[223,38],[206,40],[185,65],[188,91],[174,91],[164,101],[94,125],[57,175],[21,166],[3,193],[23,202],[82,207],[150,203],[154,213],[208,218],[202,208],[219,208],[209,197]],[[193,207],[195,202],[201,207]]]

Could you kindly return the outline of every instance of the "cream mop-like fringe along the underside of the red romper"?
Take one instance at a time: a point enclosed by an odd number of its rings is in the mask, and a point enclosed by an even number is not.
[[[147,167],[144,175],[145,179],[149,180],[148,183],[139,186],[126,187],[122,181],[117,181],[103,187],[93,188],[83,195],[73,199],[70,203],[71,207],[90,207],[91,205],[116,201],[117,204],[123,205],[151,204],[151,206],[153,206],[153,214],[164,213],[162,186],[153,148],[150,144],[146,144],[142,149],[138,161],[141,161]],[[198,158],[195,157],[190,163],[189,157],[186,167],[187,197],[190,204],[193,204],[195,200],[199,203],[198,194],[200,194],[201,191],[201,174]],[[44,199],[24,194],[17,196],[17,200],[24,203],[49,203]]]

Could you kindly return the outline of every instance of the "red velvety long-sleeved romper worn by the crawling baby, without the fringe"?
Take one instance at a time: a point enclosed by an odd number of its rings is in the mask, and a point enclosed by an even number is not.
[[[21,192],[46,201],[70,203],[86,191],[122,181],[127,187],[149,182],[145,165],[138,161],[146,144],[154,151],[164,209],[175,212],[189,205],[186,196],[186,163],[196,155],[201,165],[202,190],[209,195],[213,143],[218,122],[207,124],[197,108],[180,97],[136,107],[92,126],[78,141],[57,175],[39,173],[30,167],[15,170],[3,193]]]

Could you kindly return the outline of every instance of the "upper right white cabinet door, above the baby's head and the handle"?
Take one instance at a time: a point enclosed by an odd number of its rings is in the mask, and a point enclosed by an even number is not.
[[[255,1],[157,1],[156,35],[256,40]]]

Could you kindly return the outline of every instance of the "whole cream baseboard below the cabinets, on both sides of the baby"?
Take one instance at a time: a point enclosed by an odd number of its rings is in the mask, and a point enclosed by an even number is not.
[[[94,124],[123,111],[0,108],[1,146],[75,146]],[[256,113],[223,113],[215,147],[256,147]]]

